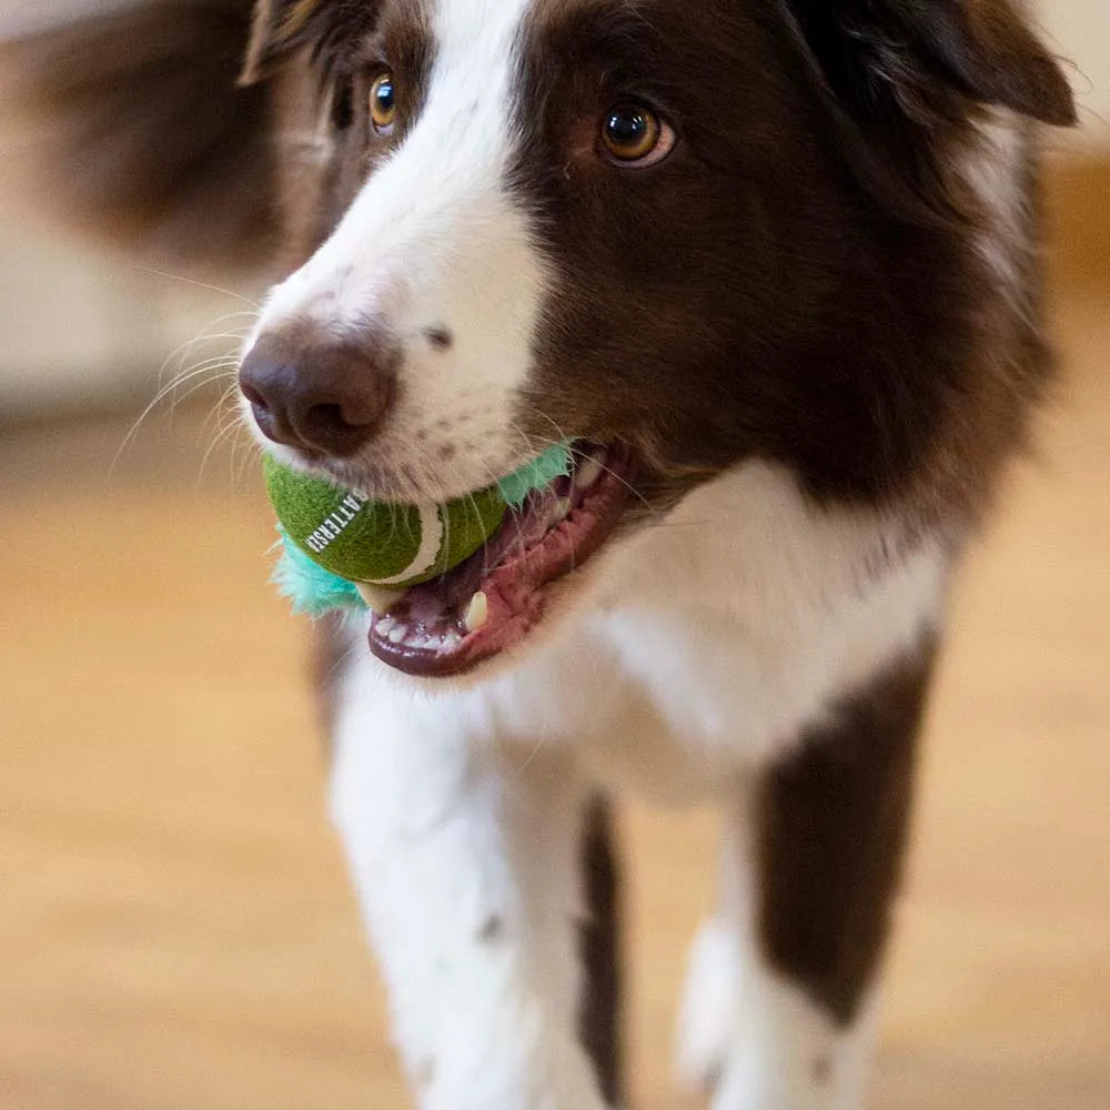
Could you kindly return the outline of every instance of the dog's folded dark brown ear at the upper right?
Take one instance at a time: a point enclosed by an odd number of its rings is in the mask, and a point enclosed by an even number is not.
[[[1067,127],[1071,88],[1011,0],[786,0],[830,89],[856,114],[890,98],[927,122],[965,102]]]

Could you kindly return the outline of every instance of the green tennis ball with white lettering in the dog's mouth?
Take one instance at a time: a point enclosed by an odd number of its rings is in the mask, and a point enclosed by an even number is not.
[[[473,555],[505,515],[497,486],[445,505],[385,505],[266,455],[266,490],[290,539],[349,582],[414,586]]]

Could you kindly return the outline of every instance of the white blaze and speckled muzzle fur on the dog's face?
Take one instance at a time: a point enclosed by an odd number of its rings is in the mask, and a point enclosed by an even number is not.
[[[462,496],[533,453],[512,415],[547,278],[505,186],[512,47],[527,7],[451,0],[434,9],[420,118],[331,238],[271,293],[248,344],[305,321],[336,337],[373,321],[401,344],[390,424],[339,475],[370,494]],[[454,337],[450,351],[425,339],[440,327]],[[438,448],[454,448],[450,461]]]

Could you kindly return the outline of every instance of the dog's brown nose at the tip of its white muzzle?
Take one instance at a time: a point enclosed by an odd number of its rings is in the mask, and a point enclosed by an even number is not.
[[[239,386],[268,438],[342,457],[382,426],[396,397],[398,360],[371,343],[263,335],[243,360]]]

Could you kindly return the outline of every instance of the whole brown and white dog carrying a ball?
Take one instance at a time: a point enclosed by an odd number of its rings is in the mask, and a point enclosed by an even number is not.
[[[73,205],[275,248],[240,380],[295,465],[427,502],[579,458],[329,628],[420,1104],[617,1104],[606,799],[640,790],[725,815],[683,1070],[716,1110],[855,1110],[948,585],[1049,376],[1067,82],[1010,0],[251,7],[18,44]]]

